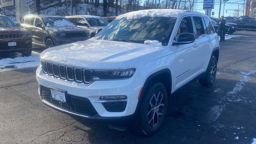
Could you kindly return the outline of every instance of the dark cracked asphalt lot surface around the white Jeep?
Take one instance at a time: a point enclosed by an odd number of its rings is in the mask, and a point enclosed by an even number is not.
[[[0,143],[252,144],[256,142],[256,32],[220,44],[216,81],[199,82],[170,97],[153,136],[69,116],[44,105],[36,68],[0,72]],[[35,48],[37,52],[42,48]]]

